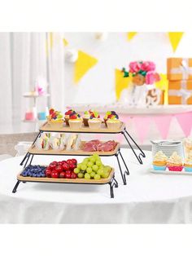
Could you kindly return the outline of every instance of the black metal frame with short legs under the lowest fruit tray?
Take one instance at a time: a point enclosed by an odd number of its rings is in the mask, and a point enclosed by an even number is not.
[[[57,183],[57,182],[41,182],[41,181],[31,181],[31,180],[26,180],[26,181],[22,181],[22,180],[17,180],[15,187],[12,190],[12,193],[15,193],[17,191],[17,188],[19,187],[20,183],[27,183],[27,182],[31,182],[31,183]],[[59,182],[61,183],[61,182]],[[84,184],[84,185],[106,185],[109,184],[109,188],[110,188],[110,196],[111,198],[114,198],[114,187],[118,188],[118,183],[115,179],[115,174],[112,176],[110,182],[108,183],[65,183],[63,182],[63,184]]]

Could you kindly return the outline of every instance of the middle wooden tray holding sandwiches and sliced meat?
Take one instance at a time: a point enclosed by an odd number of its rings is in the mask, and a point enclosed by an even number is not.
[[[86,143],[86,141],[81,141],[81,143]],[[120,149],[120,143],[116,144],[116,148],[113,151],[103,152],[103,151],[93,151],[87,152],[81,149],[79,150],[54,150],[50,148],[49,150],[37,149],[35,145],[28,149],[28,152],[33,155],[57,155],[57,156],[90,156],[93,154],[98,154],[99,156],[113,156]]]

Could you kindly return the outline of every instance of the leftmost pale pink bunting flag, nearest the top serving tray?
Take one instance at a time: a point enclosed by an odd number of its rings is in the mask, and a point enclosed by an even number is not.
[[[135,128],[137,131],[138,139],[141,143],[146,139],[149,128],[151,126],[150,117],[133,117],[133,121],[135,123]]]

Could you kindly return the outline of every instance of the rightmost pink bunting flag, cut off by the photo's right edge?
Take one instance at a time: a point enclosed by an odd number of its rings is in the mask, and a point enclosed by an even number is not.
[[[190,136],[192,126],[192,112],[180,113],[175,115],[186,137]]]

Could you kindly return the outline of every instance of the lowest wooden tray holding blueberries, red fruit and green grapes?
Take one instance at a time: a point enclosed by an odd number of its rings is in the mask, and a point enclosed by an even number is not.
[[[111,181],[115,170],[112,168],[109,177],[106,179],[54,179],[54,178],[36,178],[36,177],[23,177],[17,175],[17,180],[21,182],[38,182],[38,183],[85,183],[85,184],[107,184]]]

